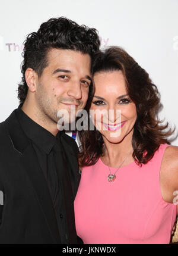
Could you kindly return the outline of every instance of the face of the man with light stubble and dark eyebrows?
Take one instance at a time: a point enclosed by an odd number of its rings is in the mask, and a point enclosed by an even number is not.
[[[35,92],[37,109],[42,118],[58,123],[58,111],[68,111],[69,122],[85,107],[91,83],[91,58],[88,54],[52,49],[47,55],[48,66],[37,78]],[[71,113],[71,105],[75,111]]]

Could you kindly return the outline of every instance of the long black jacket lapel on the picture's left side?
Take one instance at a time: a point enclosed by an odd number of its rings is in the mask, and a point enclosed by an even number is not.
[[[4,124],[8,129],[14,150],[18,151],[22,156],[24,171],[26,171],[36,192],[37,201],[42,209],[50,234],[55,243],[61,243],[55,211],[45,177],[40,169],[33,146],[21,129],[20,123],[18,123],[15,111],[12,112]]]

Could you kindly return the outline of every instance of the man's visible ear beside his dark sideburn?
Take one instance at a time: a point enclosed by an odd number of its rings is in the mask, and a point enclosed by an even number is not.
[[[33,70],[33,68],[28,67],[25,73],[26,83],[30,92],[36,91],[37,85],[37,73]]]

